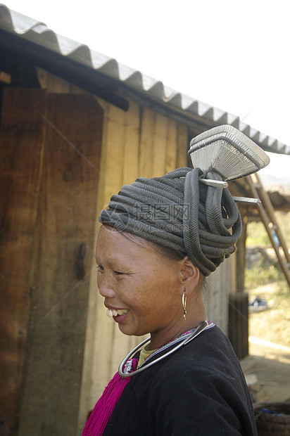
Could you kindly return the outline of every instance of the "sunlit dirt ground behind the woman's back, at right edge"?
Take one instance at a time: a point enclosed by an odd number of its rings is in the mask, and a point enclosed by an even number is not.
[[[253,402],[290,402],[290,290],[282,283],[260,286],[268,309],[250,312],[249,356],[241,361]],[[282,290],[282,291],[281,291]]]

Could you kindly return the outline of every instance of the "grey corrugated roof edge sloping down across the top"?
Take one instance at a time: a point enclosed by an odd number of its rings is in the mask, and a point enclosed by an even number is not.
[[[58,53],[68,60],[84,65],[92,71],[101,72],[118,82],[125,84],[132,91],[138,91],[153,101],[177,110],[179,116],[194,117],[195,120],[206,120],[209,127],[220,124],[231,124],[244,132],[262,148],[273,153],[290,154],[290,146],[253,129],[248,124],[240,122],[239,117],[215,108],[194,98],[168,88],[162,82],[141,74],[109,58],[92,51],[88,46],[56,34],[44,24],[33,18],[11,11],[5,5],[0,5],[0,29],[6,30],[18,37]]]

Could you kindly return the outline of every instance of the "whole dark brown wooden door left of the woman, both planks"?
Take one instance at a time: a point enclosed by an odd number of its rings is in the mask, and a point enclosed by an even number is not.
[[[0,400],[11,434],[75,435],[102,119],[92,96],[4,95]]]

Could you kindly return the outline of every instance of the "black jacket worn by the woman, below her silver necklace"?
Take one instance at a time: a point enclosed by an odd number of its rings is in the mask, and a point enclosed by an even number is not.
[[[103,432],[129,435],[257,435],[241,366],[219,328],[131,378]]]

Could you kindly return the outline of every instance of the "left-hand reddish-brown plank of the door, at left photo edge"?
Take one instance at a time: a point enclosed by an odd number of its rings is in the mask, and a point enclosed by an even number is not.
[[[0,133],[0,403],[12,428],[18,423],[23,380],[44,105],[44,92],[38,89],[4,91]]]

